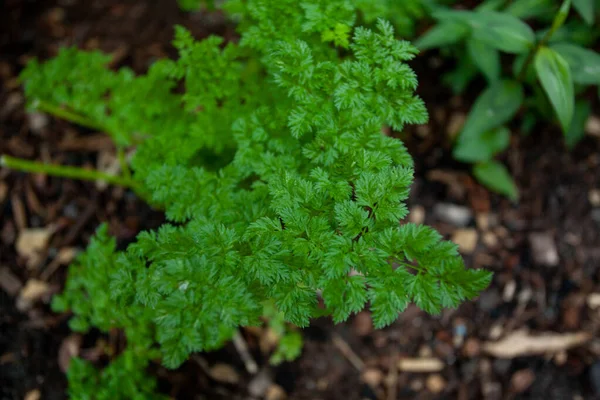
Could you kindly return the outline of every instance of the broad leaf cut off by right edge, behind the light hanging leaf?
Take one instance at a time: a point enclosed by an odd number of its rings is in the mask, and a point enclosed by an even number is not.
[[[557,43],[550,48],[567,61],[573,82],[600,85],[600,54],[570,43]]]

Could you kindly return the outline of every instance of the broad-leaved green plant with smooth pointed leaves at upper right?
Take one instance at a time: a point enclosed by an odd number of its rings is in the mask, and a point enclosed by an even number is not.
[[[458,136],[454,157],[474,163],[475,177],[490,189],[518,197],[494,156],[508,147],[506,125],[520,111],[524,133],[543,118],[558,120],[569,148],[583,137],[590,114],[586,88],[600,84],[600,55],[586,48],[600,37],[597,10],[596,0],[488,0],[472,11],[438,7],[433,12],[438,24],[417,47],[439,47],[456,56],[457,68],[446,76],[456,92],[478,73],[488,82]],[[535,32],[524,21],[548,28]],[[512,68],[504,68],[502,53],[514,56]]]

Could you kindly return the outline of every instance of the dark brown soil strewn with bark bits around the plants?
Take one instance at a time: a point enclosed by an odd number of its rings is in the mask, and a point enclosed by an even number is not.
[[[30,57],[50,57],[63,45],[115,53],[118,65],[142,72],[153,60],[173,55],[174,24],[187,26],[198,38],[233,36],[218,14],[185,14],[170,0],[0,1],[0,154],[91,166],[114,154],[96,132],[28,117],[16,76]],[[403,135],[416,161],[412,215],[448,237],[477,235],[476,247],[465,251],[466,261],[493,270],[494,281],[478,300],[458,310],[431,317],[409,308],[382,331],[372,329],[368,313],[338,326],[316,320],[303,332],[300,359],[278,367],[269,366],[268,354],[261,352],[265,331],[245,330],[271,400],[282,398],[278,390],[290,399],[600,398],[600,307],[591,300],[600,294],[600,200],[594,198],[600,196],[594,192],[600,189],[600,141],[587,137],[568,152],[560,132],[548,125],[540,124],[527,138],[515,132],[503,161],[521,189],[521,200],[513,204],[490,194],[450,155],[448,132],[468,110],[477,84],[464,97],[452,96],[439,84],[434,57],[415,62],[431,122]],[[448,204],[471,214],[464,227],[439,212],[440,205]],[[48,296],[25,310],[17,308],[17,297],[20,286],[32,279],[46,282],[50,294],[59,291],[66,271],[57,255],[85,247],[102,221],[125,245],[163,217],[118,188],[0,170],[1,399],[36,399],[36,391],[41,399],[66,398],[61,357],[73,341],[67,316],[49,310]],[[28,265],[16,251],[17,239],[26,228],[49,226],[55,233],[48,249]],[[536,249],[536,235],[550,238],[548,244]],[[553,250],[556,265],[544,265],[540,253]],[[585,332],[590,339],[565,351],[513,359],[483,351],[486,342],[524,328]],[[88,335],[80,354],[93,359],[99,339],[110,342],[117,336]],[[405,357],[437,358],[444,367],[429,373],[399,371],[398,360]],[[364,364],[362,371],[357,362]],[[236,383],[210,378],[207,370],[215,364],[233,367]],[[199,354],[176,371],[159,366],[152,371],[161,390],[177,399],[251,398],[259,381],[246,372],[233,345]]]

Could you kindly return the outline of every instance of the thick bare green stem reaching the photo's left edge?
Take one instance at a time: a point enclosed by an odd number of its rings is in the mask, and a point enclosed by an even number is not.
[[[133,190],[137,189],[137,185],[130,178],[110,175],[94,169],[84,169],[79,167],[70,167],[66,165],[53,165],[37,161],[24,160],[22,158],[1,156],[0,166],[7,167],[24,172],[32,172],[37,174],[47,174],[62,178],[80,179],[84,181],[104,181],[106,183],[123,186]]]

